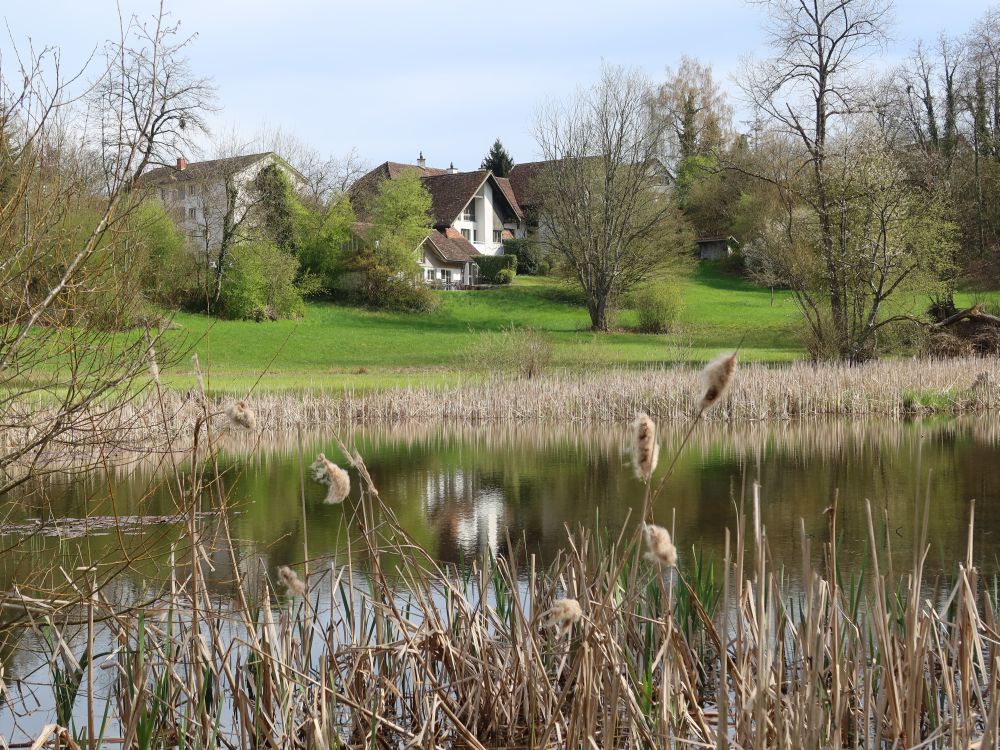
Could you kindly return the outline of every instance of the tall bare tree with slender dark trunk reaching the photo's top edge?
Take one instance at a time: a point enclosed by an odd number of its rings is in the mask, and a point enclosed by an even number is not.
[[[858,80],[867,56],[885,40],[888,0],[761,0],[769,11],[775,56],[748,66],[743,88],[753,105],[801,147],[810,175],[800,197],[816,216],[816,249],[829,306],[829,336],[839,356],[857,353],[852,339],[849,276],[836,235],[837,211],[827,168],[828,141],[846,132],[869,103]]]

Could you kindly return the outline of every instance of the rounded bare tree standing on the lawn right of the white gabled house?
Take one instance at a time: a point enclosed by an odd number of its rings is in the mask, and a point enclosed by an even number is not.
[[[537,178],[539,239],[580,282],[595,330],[608,329],[621,294],[693,247],[661,187],[664,126],[650,115],[651,95],[638,72],[605,67],[535,126],[548,161]]]

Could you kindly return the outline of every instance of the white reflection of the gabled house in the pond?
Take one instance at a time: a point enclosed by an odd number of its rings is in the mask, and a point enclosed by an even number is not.
[[[506,531],[506,498],[500,487],[462,469],[429,472],[423,499],[443,558],[473,557],[483,547],[500,553]]]

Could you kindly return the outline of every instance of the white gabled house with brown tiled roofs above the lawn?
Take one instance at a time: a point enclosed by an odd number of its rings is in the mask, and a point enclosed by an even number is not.
[[[486,169],[460,172],[428,167],[423,154],[416,164],[383,162],[351,187],[351,203],[362,221],[366,206],[384,180],[417,170],[431,195],[434,231],[417,248],[424,281],[445,288],[478,282],[477,256],[502,255],[506,239],[523,237],[524,213],[510,181]]]

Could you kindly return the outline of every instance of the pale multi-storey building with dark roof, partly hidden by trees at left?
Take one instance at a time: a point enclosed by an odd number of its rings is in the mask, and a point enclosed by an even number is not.
[[[146,172],[140,186],[160,199],[195,247],[208,250],[221,243],[227,221],[231,230],[242,227],[254,203],[247,186],[272,164],[301,187],[302,175],[271,151],[191,163],[179,158],[176,166]]]

